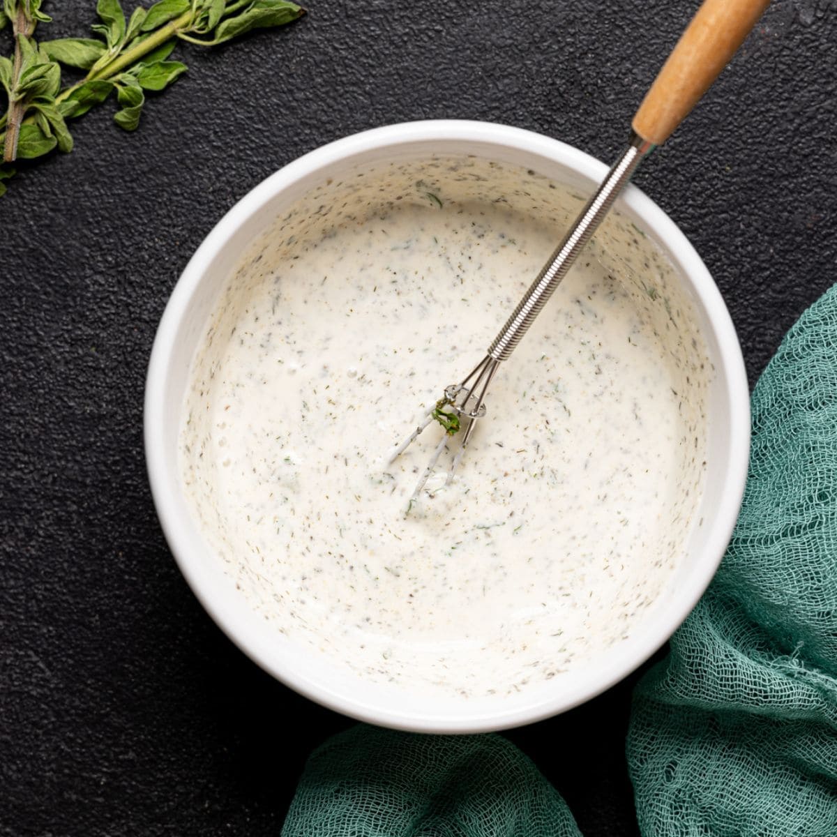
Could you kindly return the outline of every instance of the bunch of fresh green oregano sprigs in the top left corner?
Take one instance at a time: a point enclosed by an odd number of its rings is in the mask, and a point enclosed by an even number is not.
[[[139,124],[146,91],[159,91],[186,72],[168,60],[177,39],[201,46],[223,44],[256,28],[290,23],[305,9],[288,0],[158,0],[127,18],[120,0],[98,0],[96,38],[60,38],[38,44],[39,23],[49,23],[43,0],[3,0],[0,29],[13,29],[13,58],[0,57],[0,85],[8,110],[0,117],[0,195],[18,158],[33,159],[55,148],[71,151],[66,121],[83,116],[116,91],[114,121],[126,131]],[[86,71],[62,87],[61,65]]]

